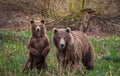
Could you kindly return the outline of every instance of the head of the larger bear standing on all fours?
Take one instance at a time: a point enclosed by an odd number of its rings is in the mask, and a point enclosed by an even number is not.
[[[67,27],[66,29],[57,29],[54,28],[53,29],[53,42],[55,44],[55,46],[59,49],[59,50],[65,50],[66,47],[68,46],[69,42],[71,41],[71,29],[69,27]]]

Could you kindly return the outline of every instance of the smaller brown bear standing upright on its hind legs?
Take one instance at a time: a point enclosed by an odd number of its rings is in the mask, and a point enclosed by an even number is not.
[[[29,49],[29,58],[23,68],[23,72],[31,70],[34,67],[39,70],[41,68],[46,69],[46,57],[50,51],[44,20],[31,20],[31,25],[32,36],[27,46]]]

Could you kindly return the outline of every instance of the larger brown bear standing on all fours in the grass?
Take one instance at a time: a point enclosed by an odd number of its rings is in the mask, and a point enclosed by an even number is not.
[[[71,31],[68,27],[53,29],[53,43],[56,47],[56,56],[59,68],[76,70],[80,63],[91,70],[94,67],[94,50],[87,36],[80,31]],[[75,69],[76,68],[76,69]]]

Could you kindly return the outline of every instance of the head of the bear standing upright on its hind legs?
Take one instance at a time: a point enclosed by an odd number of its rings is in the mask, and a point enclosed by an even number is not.
[[[37,38],[45,36],[46,28],[44,25],[44,20],[41,21],[31,20],[31,25],[32,36]]]

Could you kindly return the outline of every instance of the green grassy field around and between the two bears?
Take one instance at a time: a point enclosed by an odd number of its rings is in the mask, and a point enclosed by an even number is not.
[[[26,48],[30,31],[0,32],[0,76],[59,76],[55,47],[52,44],[52,33],[47,32],[51,51],[48,55],[48,70],[38,73],[36,69],[22,73],[22,68],[28,58]],[[95,68],[92,71],[79,69],[75,76],[120,76],[120,38],[89,37],[95,49]],[[62,76],[70,76],[69,73]]]

